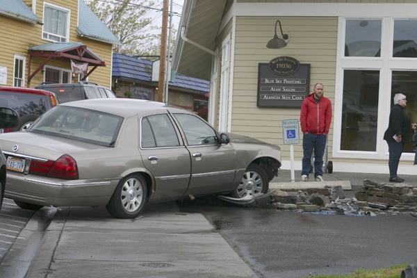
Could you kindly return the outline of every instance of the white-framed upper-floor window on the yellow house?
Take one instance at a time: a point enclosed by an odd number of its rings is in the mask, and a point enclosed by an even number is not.
[[[67,42],[70,26],[70,10],[44,3],[42,38],[52,42]]]

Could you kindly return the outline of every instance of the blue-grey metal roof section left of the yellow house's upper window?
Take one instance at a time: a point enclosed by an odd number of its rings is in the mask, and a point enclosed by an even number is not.
[[[42,24],[42,20],[22,0],[0,0],[0,15],[6,15],[7,17],[13,17],[33,24]]]

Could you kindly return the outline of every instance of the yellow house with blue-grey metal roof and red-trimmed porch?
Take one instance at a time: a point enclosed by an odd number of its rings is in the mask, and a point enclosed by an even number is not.
[[[82,0],[0,1],[0,85],[90,81],[111,87],[120,41]]]

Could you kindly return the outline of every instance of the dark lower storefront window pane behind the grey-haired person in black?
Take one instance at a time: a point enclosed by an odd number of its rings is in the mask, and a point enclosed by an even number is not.
[[[407,97],[407,106],[405,107],[405,113],[411,119],[411,122],[417,122],[417,72],[409,71],[393,71],[391,83],[391,107],[394,105],[393,98],[395,94],[399,92]],[[411,126],[410,126],[411,131]],[[411,132],[411,136],[413,133]],[[412,138],[409,138],[411,142]],[[413,145],[406,143],[404,145],[403,152],[413,151]]]

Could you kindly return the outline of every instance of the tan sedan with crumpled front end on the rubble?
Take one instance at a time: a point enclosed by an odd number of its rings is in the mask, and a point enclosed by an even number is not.
[[[5,196],[21,208],[106,205],[115,218],[136,218],[151,202],[266,193],[281,166],[278,146],[139,99],[60,104],[0,144]]]

